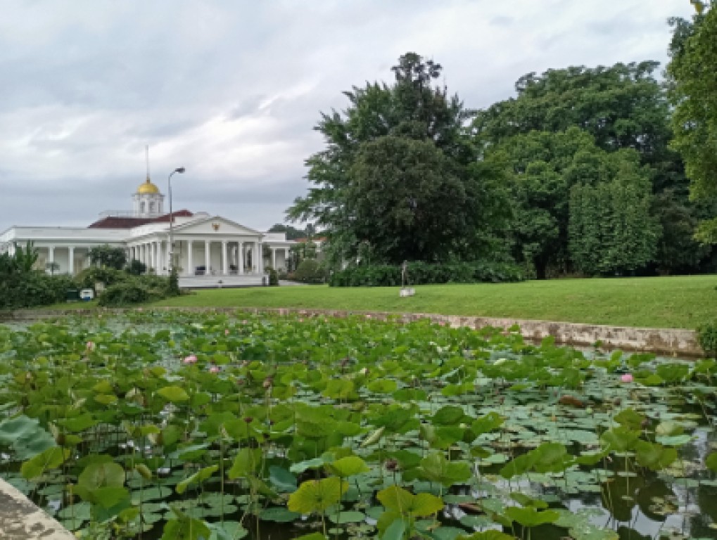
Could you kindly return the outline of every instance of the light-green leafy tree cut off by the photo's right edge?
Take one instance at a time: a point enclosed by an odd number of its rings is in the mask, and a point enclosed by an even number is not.
[[[692,21],[673,19],[668,74],[675,106],[673,148],[685,160],[695,199],[717,196],[717,9],[693,2],[698,13]],[[717,218],[698,230],[701,241],[717,244]]]

